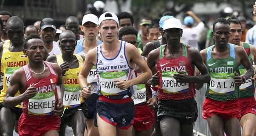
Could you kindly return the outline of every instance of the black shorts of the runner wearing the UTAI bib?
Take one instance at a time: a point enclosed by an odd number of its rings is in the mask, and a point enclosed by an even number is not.
[[[71,118],[73,117],[73,115],[78,111],[78,110],[82,110],[82,112],[84,113],[84,116],[87,116],[87,105],[83,102],[81,103],[80,106],[75,107],[75,108],[66,108],[64,110],[64,113],[62,115],[62,124],[66,124],[69,123]]]

